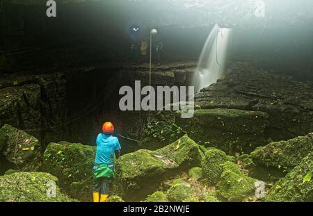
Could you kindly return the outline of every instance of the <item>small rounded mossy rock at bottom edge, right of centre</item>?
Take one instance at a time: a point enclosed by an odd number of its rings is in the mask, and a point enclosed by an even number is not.
[[[194,196],[195,190],[191,187],[191,185],[186,184],[172,185],[167,192],[168,200],[174,202],[181,202]]]

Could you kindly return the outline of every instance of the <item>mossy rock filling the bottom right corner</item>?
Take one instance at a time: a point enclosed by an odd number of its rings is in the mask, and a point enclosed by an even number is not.
[[[313,201],[313,153],[303,158],[287,176],[281,178],[266,192],[265,201],[312,202]]]

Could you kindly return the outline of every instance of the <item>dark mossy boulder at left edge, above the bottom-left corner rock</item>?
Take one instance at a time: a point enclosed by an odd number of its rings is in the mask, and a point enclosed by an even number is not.
[[[41,164],[40,142],[32,135],[4,124],[0,129],[0,149],[14,169],[36,171]]]

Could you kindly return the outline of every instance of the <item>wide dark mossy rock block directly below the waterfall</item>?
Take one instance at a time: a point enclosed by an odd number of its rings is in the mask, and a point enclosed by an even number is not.
[[[195,110],[190,119],[176,118],[176,124],[199,144],[209,144],[227,153],[250,152],[266,144],[264,128],[268,115],[236,109]]]

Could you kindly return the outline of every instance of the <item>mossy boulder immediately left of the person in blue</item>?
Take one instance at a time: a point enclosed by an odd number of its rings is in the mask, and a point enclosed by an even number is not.
[[[61,188],[80,201],[92,200],[92,168],[95,147],[80,143],[50,143],[44,153],[42,171],[58,177]]]

